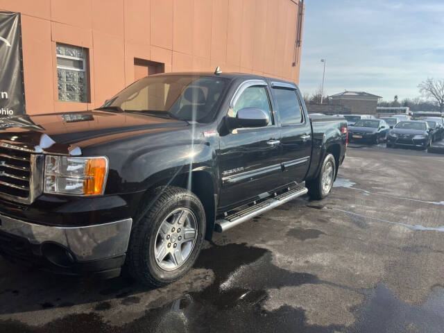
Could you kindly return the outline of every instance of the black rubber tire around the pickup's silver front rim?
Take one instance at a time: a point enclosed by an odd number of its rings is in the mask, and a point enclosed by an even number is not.
[[[131,232],[126,269],[138,282],[150,287],[163,287],[184,276],[194,265],[205,237],[205,210],[200,200],[190,191],[180,187],[159,187],[152,197],[158,198]],[[155,240],[157,231],[165,219],[180,207],[190,210],[196,218],[197,238],[194,248],[182,266],[173,271],[166,271],[155,259]],[[172,237],[171,237],[172,238]]]

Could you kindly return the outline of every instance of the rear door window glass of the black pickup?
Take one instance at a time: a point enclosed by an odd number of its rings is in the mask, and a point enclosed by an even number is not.
[[[282,125],[302,123],[302,111],[296,91],[290,89],[273,89],[279,117]]]

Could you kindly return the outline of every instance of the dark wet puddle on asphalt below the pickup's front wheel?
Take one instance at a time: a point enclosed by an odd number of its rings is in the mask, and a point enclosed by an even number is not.
[[[302,309],[289,306],[274,311],[263,309],[268,298],[266,289],[318,283],[316,275],[275,266],[269,250],[246,244],[212,246],[202,251],[195,268],[212,270],[214,282],[200,292],[185,293],[167,305],[149,304],[144,316],[123,326],[106,323],[104,311],[116,311],[124,306],[123,303],[137,304],[139,299],[131,294],[140,293],[140,289],[116,280],[114,285],[98,293],[102,297],[109,296],[110,301],[99,302],[95,312],[70,314],[41,327],[19,321],[0,321],[0,332],[309,332],[314,328],[313,332],[332,332],[341,329],[336,325],[307,324]],[[174,287],[171,292],[173,290]],[[162,293],[162,289],[146,292]],[[121,298],[117,305],[116,298]],[[162,304],[162,300],[158,302]]]

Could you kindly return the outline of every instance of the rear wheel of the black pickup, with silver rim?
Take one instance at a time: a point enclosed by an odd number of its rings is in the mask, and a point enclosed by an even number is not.
[[[332,154],[327,154],[318,177],[305,182],[311,199],[321,200],[330,194],[336,174],[336,161]]]

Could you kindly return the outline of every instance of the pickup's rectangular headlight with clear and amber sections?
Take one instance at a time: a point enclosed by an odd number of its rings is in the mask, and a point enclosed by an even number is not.
[[[96,196],[105,191],[108,157],[45,157],[44,192]]]

